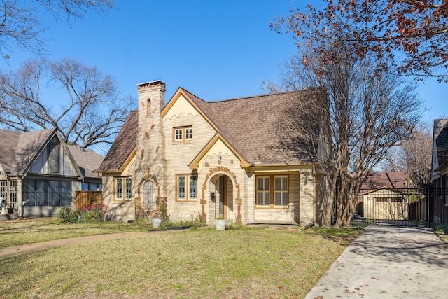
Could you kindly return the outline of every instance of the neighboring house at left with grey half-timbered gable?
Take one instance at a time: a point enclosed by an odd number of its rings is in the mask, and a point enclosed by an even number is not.
[[[75,191],[83,183],[99,188],[102,179],[91,170],[103,157],[78,151],[66,146],[55,129],[0,130],[0,197],[10,211],[19,216],[55,216],[61,207],[75,206]]]

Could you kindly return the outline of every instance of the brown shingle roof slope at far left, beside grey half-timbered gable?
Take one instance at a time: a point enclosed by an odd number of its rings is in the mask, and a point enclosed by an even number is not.
[[[10,174],[25,174],[32,159],[55,132],[55,129],[32,132],[0,129],[0,165],[3,170]]]

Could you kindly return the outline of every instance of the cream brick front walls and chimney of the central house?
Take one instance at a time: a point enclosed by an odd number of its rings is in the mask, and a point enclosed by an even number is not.
[[[198,109],[199,102],[193,101],[192,95],[178,90],[165,106],[165,85],[160,81],[139,85],[138,93],[134,158],[128,159],[130,165],[126,173],[109,174],[104,178],[104,202],[117,209],[121,220],[137,218],[142,209],[156,209],[142,204],[146,181],[153,182],[155,196],[166,198],[167,214],[172,221],[201,216],[212,223],[220,214],[241,224],[305,225],[316,220],[318,190],[311,164],[249,165],[228,139],[220,137],[216,124]],[[174,130],[185,127],[193,130],[193,138],[174,140]],[[232,138],[238,139],[239,135],[232,135]],[[257,207],[257,176],[274,177],[277,173],[288,177],[288,204]],[[132,200],[116,202],[113,179],[125,175],[132,177]],[[197,177],[196,198],[179,198],[179,176]]]

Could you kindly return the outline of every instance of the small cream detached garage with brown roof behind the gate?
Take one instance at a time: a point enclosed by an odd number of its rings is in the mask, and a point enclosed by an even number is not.
[[[358,196],[357,213],[368,219],[407,220],[409,193],[405,172],[374,172]]]

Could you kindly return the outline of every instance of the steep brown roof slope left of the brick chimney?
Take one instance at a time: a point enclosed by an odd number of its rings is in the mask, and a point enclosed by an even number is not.
[[[131,111],[102,164],[95,172],[119,172],[137,146],[138,111]]]

